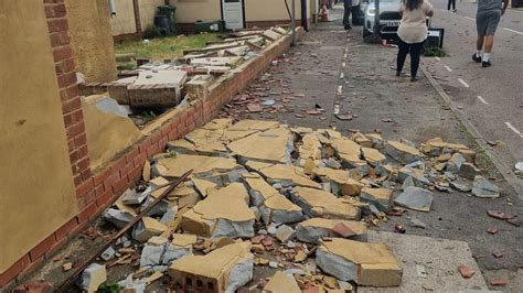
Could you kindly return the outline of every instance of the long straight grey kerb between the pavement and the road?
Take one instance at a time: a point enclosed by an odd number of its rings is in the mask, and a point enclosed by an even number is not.
[[[452,100],[450,97],[445,93],[445,90],[441,88],[439,83],[433,77],[433,75],[428,72],[428,69],[425,67],[425,65],[419,66],[421,68],[421,72],[425,74],[427,79],[429,80],[430,85],[438,91],[439,96],[441,99],[445,101],[445,104],[450,108],[452,113],[458,118],[460,123],[467,129],[467,131],[472,135],[472,138],[476,140],[478,145],[481,148],[481,150],[487,154],[487,156],[492,161],[494,166],[500,171],[501,175],[503,178],[506,181],[506,183],[512,187],[514,193],[517,195],[517,197],[523,200],[523,182],[519,180],[514,173],[512,172],[512,166],[506,165],[501,161],[499,155],[492,150],[489,144],[487,143],[487,140],[483,138],[483,135],[478,131],[478,129],[465,117],[465,115],[452,104]]]

